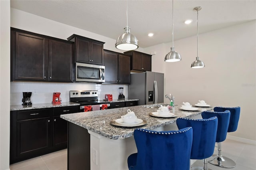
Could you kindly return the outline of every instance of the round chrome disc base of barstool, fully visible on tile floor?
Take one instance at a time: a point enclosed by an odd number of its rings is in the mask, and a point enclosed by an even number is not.
[[[232,159],[227,158],[226,156],[216,156],[213,160],[208,161],[210,164],[215,166],[219,166],[222,168],[234,168],[236,166],[236,162]]]

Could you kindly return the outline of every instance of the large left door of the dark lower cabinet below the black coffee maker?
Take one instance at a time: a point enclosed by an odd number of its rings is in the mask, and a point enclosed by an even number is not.
[[[17,121],[17,156],[20,160],[42,155],[52,146],[50,117]]]

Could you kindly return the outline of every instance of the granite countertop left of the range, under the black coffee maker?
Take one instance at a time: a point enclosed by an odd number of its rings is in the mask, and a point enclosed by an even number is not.
[[[62,102],[60,104],[39,103],[39,104],[32,104],[32,105],[28,105],[28,106],[10,105],[10,111],[29,110],[29,109],[43,109],[43,108],[50,108],[50,107],[77,106],[77,105],[80,105],[80,104],[79,103],[72,103],[72,102]]]

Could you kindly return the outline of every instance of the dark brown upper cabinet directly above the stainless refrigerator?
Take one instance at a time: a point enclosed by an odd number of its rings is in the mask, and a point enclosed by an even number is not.
[[[139,51],[126,51],[125,54],[132,56],[132,68],[134,71],[151,71],[152,55]]]

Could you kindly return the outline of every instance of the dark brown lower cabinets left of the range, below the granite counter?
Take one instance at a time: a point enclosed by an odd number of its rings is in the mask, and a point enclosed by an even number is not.
[[[67,148],[67,121],[79,106],[11,111],[10,164]]]

